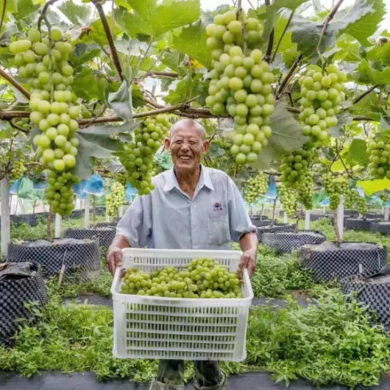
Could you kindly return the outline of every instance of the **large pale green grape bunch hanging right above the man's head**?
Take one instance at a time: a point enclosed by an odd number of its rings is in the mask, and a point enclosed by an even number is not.
[[[206,27],[207,45],[213,50],[206,104],[214,115],[234,118],[231,152],[237,164],[255,162],[272,133],[268,124],[274,111],[273,73],[255,48],[262,33],[259,20],[243,12],[237,18],[236,10],[216,15],[214,24]]]

